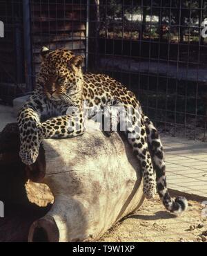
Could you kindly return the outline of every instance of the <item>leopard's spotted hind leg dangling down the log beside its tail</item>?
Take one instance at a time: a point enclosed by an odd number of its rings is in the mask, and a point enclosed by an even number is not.
[[[137,156],[144,176],[144,194],[147,199],[152,199],[156,194],[155,172],[148,150],[146,127],[139,105],[137,104],[137,108],[132,106],[124,107],[122,103],[116,102],[106,111],[105,119],[107,119],[106,123],[109,128],[107,134],[115,131],[114,129],[111,131],[111,128],[116,127],[126,133],[128,142],[132,145],[133,152]]]

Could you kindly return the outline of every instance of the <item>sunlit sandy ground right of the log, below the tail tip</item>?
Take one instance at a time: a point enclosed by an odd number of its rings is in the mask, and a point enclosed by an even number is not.
[[[201,203],[189,201],[189,205],[185,214],[175,217],[166,212],[158,198],[153,201],[145,201],[144,205],[135,214],[117,223],[100,241],[201,241],[199,236],[207,231],[207,216],[205,218],[201,215],[201,211],[204,209]],[[205,236],[202,238],[205,240]]]

